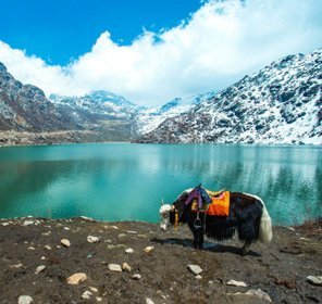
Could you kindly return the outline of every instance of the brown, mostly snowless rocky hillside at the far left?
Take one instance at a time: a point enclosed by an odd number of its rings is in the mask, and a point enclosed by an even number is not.
[[[0,63],[0,130],[44,131],[81,128],[39,88],[15,80]]]

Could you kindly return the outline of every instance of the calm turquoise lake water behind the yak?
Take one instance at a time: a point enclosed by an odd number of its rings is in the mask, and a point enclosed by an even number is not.
[[[0,218],[159,220],[199,182],[253,193],[277,224],[322,215],[322,148],[98,143],[0,148]]]

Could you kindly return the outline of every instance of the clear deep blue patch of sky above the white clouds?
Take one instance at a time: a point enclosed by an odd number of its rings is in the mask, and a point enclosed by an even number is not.
[[[144,28],[177,26],[199,8],[200,0],[0,0],[0,39],[65,65],[104,30],[119,45],[131,45]]]

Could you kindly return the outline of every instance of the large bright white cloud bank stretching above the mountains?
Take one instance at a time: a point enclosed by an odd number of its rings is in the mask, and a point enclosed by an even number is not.
[[[47,94],[106,89],[160,104],[223,89],[283,55],[321,48],[321,15],[320,0],[209,1],[179,26],[144,31],[131,46],[102,33],[67,66],[50,66],[1,41],[0,62]]]

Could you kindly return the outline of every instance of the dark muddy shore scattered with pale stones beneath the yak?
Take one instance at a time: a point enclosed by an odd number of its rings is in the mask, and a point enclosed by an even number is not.
[[[0,303],[321,303],[322,228],[274,227],[190,246],[187,227],[88,218],[0,220]]]

